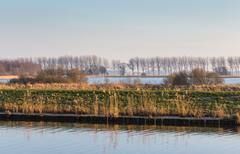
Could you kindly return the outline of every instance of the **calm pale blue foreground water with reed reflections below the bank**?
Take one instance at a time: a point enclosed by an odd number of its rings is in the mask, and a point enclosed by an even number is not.
[[[240,129],[0,122],[1,154],[239,154]]]

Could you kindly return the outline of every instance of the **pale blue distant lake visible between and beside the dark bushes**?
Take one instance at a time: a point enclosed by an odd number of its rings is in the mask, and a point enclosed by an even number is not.
[[[143,84],[163,84],[164,78],[151,78],[151,77],[89,77],[88,82],[90,84],[99,83],[134,83],[140,82]],[[240,84],[240,78],[225,78],[225,84]]]

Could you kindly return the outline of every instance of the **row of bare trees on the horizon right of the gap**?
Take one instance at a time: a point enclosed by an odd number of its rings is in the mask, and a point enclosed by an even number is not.
[[[112,69],[123,75],[129,69],[132,75],[168,75],[200,68],[221,75],[240,75],[240,57],[152,57],[131,58],[128,63],[112,61]]]

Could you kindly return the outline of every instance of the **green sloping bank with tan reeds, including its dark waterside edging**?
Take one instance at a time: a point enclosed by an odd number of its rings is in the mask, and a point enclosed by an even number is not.
[[[240,92],[2,89],[0,112],[1,120],[237,125]]]

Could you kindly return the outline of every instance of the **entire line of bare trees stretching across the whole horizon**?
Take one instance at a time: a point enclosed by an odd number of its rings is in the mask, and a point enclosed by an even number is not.
[[[61,56],[0,60],[0,74],[36,75],[41,70],[78,69],[84,74],[170,75],[196,68],[221,75],[240,75],[240,57],[151,57],[127,62],[98,56]]]

